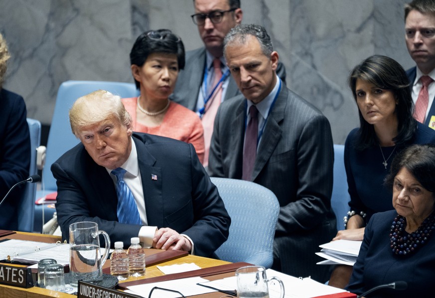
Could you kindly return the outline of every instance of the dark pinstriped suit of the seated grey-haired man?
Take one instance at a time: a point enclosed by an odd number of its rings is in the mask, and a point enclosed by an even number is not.
[[[245,109],[242,95],[220,105],[210,147],[211,176],[241,179]],[[275,249],[282,271],[292,276],[327,278],[321,272],[327,266],[317,266],[314,253],[336,233],[330,206],[333,162],[328,120],[283,86],[267,119],[252,181],[272,190],[280,202]]]

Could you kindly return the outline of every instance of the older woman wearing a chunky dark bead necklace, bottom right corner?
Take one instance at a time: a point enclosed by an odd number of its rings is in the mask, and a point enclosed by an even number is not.
[[[362,294],[396,281],[405,291],[381,297],[427,297],[435,291],[435,147],[413,145],[394,158],[385,185],[395,210],[374,214],[353,267],[347,290]]]

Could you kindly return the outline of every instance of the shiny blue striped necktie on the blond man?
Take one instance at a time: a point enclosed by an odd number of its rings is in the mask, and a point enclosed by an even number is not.
[[[117,215],[120,223],[142,225],[141,216],[139,215],[138,206],[132,191],[124,181],[126,170],[118,167],[111,171],[116,177],[116,194],[118,196]]]

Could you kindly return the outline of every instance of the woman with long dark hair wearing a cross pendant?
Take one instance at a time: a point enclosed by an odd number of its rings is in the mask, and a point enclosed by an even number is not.
[[[350,132],[344,147],[350,211],[346,229],[333,240],[363,240],[371,216],[392,209],[383,186],[391,160],[412,144],[435,144],[435,131],[413,118],[408,77],[394,59],[368,57],[351,71],[349,86],[358,105],[360,128]],[[350,266],[336,267],[330,284],[343,288],[351,273]]]

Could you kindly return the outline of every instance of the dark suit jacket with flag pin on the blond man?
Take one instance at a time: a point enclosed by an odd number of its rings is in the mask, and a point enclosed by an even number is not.
[[[148,225],[168,227],[192,239],[194,252],[210,256],[228,237],[230,217],[191,144],[134,133],[144,188]],[[112,243],[130,244],[141,225],[118,222],[118,198],[107,170],[97,165],[82,144],[51,166],[57,180],[57,220],[62,235],[69,225],[92,221]],[[157,175],[157,180],[151,179]]]

